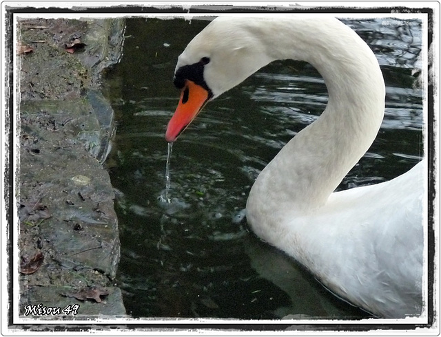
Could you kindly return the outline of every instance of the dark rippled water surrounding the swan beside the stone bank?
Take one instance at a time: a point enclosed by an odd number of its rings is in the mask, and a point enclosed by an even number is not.
[[[325,109],[325,83],[306,63],[271,63],[209,102],[173,146],[172,202],[161,202],[165,127],[179,96],[172,84],[174,67],[207,23],[127,19],[124,56],[105,83],[118,124],[107,166],[118,191],[118,283],[127,312],[134,317],[366,317],[260,242],[241,213],[260,170]],[[422,92],[413,89],[415,69],[421,67],[420,22],[345,23],[378,56],[387,102],[378,138],[340,189],[389,180],[422,156]]]

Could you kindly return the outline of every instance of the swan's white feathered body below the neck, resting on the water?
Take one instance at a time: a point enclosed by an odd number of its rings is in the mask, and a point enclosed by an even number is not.
[[[288,212],[278,247],[354,305],[384,317],[418,316],[423,178],[420,162],[389,182],[333,193],[315,214]]]

